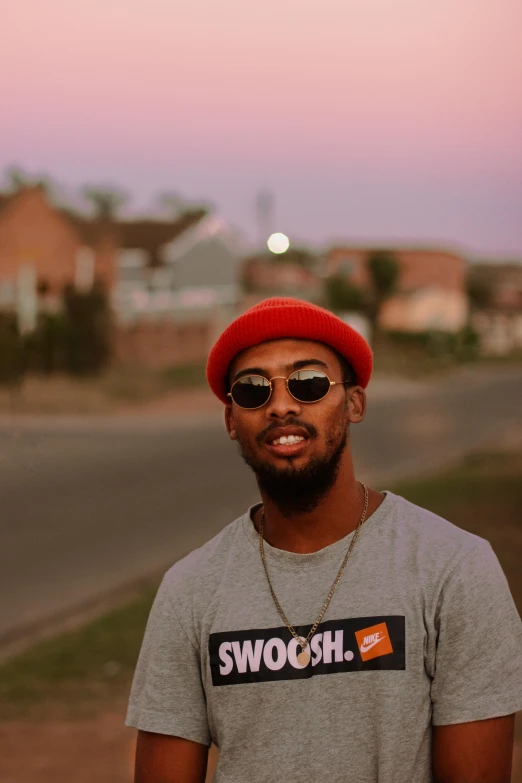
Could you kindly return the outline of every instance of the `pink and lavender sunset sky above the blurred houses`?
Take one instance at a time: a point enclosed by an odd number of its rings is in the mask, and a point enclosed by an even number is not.
[[[0,169],[522,258],[520,0],[16,0]]]

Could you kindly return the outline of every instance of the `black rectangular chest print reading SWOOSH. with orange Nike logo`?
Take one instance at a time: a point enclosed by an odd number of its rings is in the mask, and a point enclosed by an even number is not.
[[[311,625],[296,627],[306,638]],[[304,680],[316,674],[400,670],[406,668],[406,618],[402,615],[356,617],[321,623],[307,652],[285,626],[213,633],[209,637],[213,685],[244,685]]]

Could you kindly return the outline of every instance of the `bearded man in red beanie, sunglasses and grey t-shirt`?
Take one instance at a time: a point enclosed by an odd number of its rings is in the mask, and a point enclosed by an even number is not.
[[[371,372],[359,334],[295,299],[210,352],[262,503],[163,580],[127,716],[136,783],[202,783],[211,742],[218,783],[510,780],[520,618],[487,541],[356,480]]]

